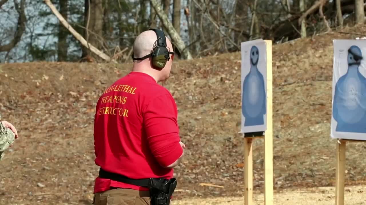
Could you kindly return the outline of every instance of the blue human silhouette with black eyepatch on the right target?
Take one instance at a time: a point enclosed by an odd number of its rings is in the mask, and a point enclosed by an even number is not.
[[[362,53],[358,46],[348,49],[347,73],[336,83],[333,118],[336,131],[366,133],[366,78],[359,71]]]

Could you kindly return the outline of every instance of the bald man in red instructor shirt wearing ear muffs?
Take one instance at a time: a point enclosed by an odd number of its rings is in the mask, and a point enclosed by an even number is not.
[[[132,71],[97,102],[94,150],[100,172],[94,184],[95,205],[154,204],[146,181],[173,178],[185,145],[175,101],[157,84],[169,77],[174,57],[169,50],[172,44],[162,31],[142,32],[133,45]]]

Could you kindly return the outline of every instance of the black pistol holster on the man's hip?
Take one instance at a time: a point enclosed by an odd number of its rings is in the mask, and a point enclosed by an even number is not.
[[[176,186],[177,181],[175,178],[150,178],[151,205],[169,205]]]

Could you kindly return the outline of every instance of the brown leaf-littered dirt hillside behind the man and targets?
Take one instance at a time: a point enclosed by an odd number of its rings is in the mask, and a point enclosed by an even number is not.
[[[275,191],[334,186],[335,140],[330,139],[332,39],[346,28],[273,46]],[[352,34],[354,33],[354,34]],[[187,151],[176,169],[175,198],[243,194],[240,131],[240,53],[176,61],[164,83],[175,98]],[[20,139],[6,152],[0,204],[90,204],[94,165],[93,115],[100,94],[129,64],[0,64],[0,112]],[[254,189],[263,189],[262,140],[254,143]],[[347,145],[347,184],[366,179],[366,144]],[[200,186],[199,183],[224,188]]]

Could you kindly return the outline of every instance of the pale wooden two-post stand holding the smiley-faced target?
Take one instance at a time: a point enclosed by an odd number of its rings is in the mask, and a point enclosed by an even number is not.
[[[266,42],[267,57],[267,129],[244,133],[244,205],[253,205],[253,146],[254,139],[264,139],[264,204],[273,204],[273,121],[272,121],[272,41]]]

